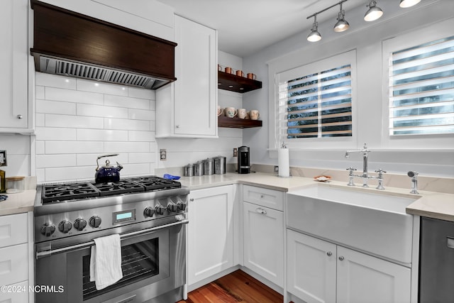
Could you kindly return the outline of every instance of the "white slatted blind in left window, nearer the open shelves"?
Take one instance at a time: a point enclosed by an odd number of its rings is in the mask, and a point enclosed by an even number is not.
[[[278,119],[284,138],[352,136],[351,66],[279,83]]]

